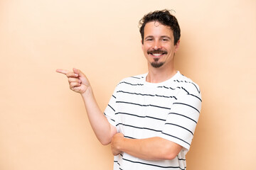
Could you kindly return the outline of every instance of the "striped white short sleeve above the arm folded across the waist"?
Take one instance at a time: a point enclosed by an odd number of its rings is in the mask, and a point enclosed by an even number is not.
[[[201,93],[177,96],[160,137],[181,145],[188,152],[198,123],[201,102]]]

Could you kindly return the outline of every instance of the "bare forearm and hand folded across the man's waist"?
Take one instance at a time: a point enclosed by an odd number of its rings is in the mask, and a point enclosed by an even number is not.
[[[139,159],[168,160],[174,159],[182,147],[162,137],[137,140],[125,138],[122,133],[117,133],[112,137],[111,149],[114,155],[125,152]]]

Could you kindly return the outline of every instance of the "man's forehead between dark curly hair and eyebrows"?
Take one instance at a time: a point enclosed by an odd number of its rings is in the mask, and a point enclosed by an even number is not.
[[[144,27],[144,38],[146,36],[169,36],[170,38],[174,36],[173,30],[169,26],[164,26],[163,24],[152,21],[146,23]]]

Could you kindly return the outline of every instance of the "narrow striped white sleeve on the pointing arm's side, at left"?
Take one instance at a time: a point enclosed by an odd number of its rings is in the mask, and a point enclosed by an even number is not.
[[[104,115],[109,121],[111,125],[117,128],[117,115],[115,115],[117,111],[117,87],[114,89],[114,93],[112,94],[109,103],[107,104],[107,108],[105,109]],[[119,130],[117,129],[117,132]]]

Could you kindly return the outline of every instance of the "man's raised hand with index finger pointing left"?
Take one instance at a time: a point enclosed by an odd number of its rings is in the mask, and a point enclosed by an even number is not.
[[[73,72],[65,69],[57,69],[56,72],[65,74],[68,77],[70,89],[77,93],[83,94],[90,87],[87,77],[79,69],[74,68]]]

